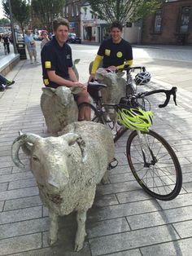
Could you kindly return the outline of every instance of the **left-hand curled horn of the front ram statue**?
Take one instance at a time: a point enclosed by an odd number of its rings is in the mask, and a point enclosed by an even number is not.
[[[34,143],[35,140],[39,138],[41,137],[38,135],[24,134],[24,135],[18,136],[14,140],[11,147],[11,157],[12,157],[12,161],[15,163],[15,166],[19,167],[20,169],[24,169],[24,164],[20,161],[20,158],[19,158],[20,147],[24,143]]]

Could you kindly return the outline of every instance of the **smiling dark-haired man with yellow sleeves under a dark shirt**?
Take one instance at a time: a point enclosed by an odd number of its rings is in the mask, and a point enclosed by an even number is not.
[[[123,26],[118,21],[111,24],[111,38],[102,42],[98,49],[98,54],[94,59],[94,64],[91,69],[89,81],[94,79],[94,75],[98,66],[103,60],[103,68],[109,68],[116,71],[118,68],[124,68],[125,64],[133,63],[132,46],[129,42],[121,38]]]

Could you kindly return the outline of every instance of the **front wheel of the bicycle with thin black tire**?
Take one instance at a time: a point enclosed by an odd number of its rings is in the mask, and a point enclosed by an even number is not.
[[[129,135],[126,147],[129,167],[137,183],[149,195],[162,201],[170,201],[180,193],[182,186],[182,173],[178,158],[168,142],[155,131],[141,132],[141,135],[146,136],[157,162],[151,166],[144,166],[141,142],[138,141],[137,131],[134,130]],[[146,161],[149,162],[151,152],[144,143],[142,140],[142,147],[146,150]]]

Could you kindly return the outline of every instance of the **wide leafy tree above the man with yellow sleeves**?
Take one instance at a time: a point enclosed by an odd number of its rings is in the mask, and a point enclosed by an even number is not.
[[[123,24],[142,20],[159,7],[158,0],[88,0],[98,18],[111,24],[118,20]]]

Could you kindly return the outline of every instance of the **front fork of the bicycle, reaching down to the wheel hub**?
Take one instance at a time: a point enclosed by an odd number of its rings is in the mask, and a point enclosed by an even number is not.
[[[150,142],[146,138],[146,134],[145,133],[142,134],[142,132],[140,130],[137,130],[137,135],[138,135],[138,141],[139,141],[139,144],[140,144],[140,147],[141,147],[141,150],[142,150],[142,157],[143,157],[143,161],[144,161],[144,166],[143,167],[155,166],[155,164],[157,163],[157,158],[154,156],[154,153],[152,151]],[[151,162],[146,161],[146,156],[149,155],[146,152],[146,148],[150,152]]]

